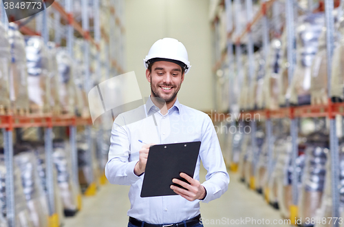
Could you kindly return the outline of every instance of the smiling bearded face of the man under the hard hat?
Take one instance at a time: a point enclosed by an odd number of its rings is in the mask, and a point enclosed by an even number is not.
[[[182,67],[168,61],[157,61],[151,66],[151,71],[146,70],[146,77],[151,83],[151,96],[162,98],[168,108],[172,107],[184,80]]]

